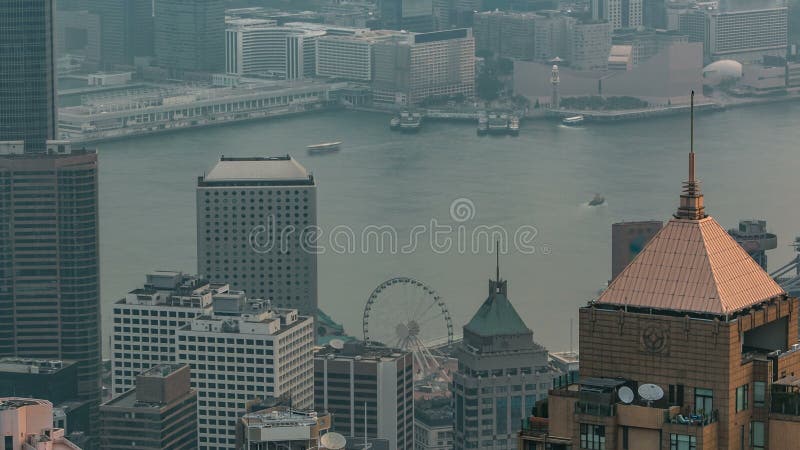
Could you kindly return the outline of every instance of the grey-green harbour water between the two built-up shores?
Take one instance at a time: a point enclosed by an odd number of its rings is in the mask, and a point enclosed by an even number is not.
[[[510,234],[535,227],[535,253],[511,248],[501,256],[501,275],[535,338],[552,350],[568,349],[570,319],[608,280],[611,224],[667,220],[687,176],[688,117],[583,127],[533,121],[522,124],[518,137],[478,137],[472,123],[392,133],[388,120],[321,113],[100,144],[106,336],[110,305],[147,271],[196,271],[196,177],[220,155],[295,156],[316,176],[324,232],[391,225],[402,246],[415,226],[432,220],[454,230],[496,225]],[[707,211],[726,228],[740,218],[767,219],[779,237],[771,267],[793,256],[788,244],[800,234],[796,192],[787,190],[800,173],[798,121],[800,104],[785,103],[702,115],[696,123]],[[306,146],[328,141],[343,141],[341,152],[306,153]],[[595,193],[605,205],[587,205]],[[457,199],[474,205],[474,215],[454,220]],[[427,239],[418,244],[409,254],[328,249],[319,259],[321,307],[360,336],[371,290],[406,275],[436,288],[460,330],[486,298],[495,257],[471,245],[441,252]]]

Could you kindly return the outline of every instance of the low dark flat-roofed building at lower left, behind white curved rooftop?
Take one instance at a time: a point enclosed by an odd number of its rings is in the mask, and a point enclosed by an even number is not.
[[[72,361],[0,358],[0,397],[47,400],[63,417],[55,427],[67,434],[88,432],[90,401],[78,396],[78,366]]]

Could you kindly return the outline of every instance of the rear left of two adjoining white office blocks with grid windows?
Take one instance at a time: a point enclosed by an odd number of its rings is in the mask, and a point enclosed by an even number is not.
[[[210,313],[213,294],[227,290],[181,272],[160,271],[114,303],[113,395],[133,389],[136,375],[152,366],[175,362],[175,332]]]

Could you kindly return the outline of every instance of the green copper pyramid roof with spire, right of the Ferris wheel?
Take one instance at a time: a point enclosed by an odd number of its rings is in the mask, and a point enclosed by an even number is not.
[[[489,281],[489,298],[478,308],[465,331],[479,336],[528,334],[531,330],[522,321],[506,296],[506,281]]]

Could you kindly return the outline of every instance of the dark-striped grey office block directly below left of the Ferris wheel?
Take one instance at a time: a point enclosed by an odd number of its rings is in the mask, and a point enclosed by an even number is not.
[[[332,416],[332,429],[348,438],[414,448],[414,364],[409,352],[346,342],[314,356],[314,410]],[[366,414],[367,428],[364,429]]]

